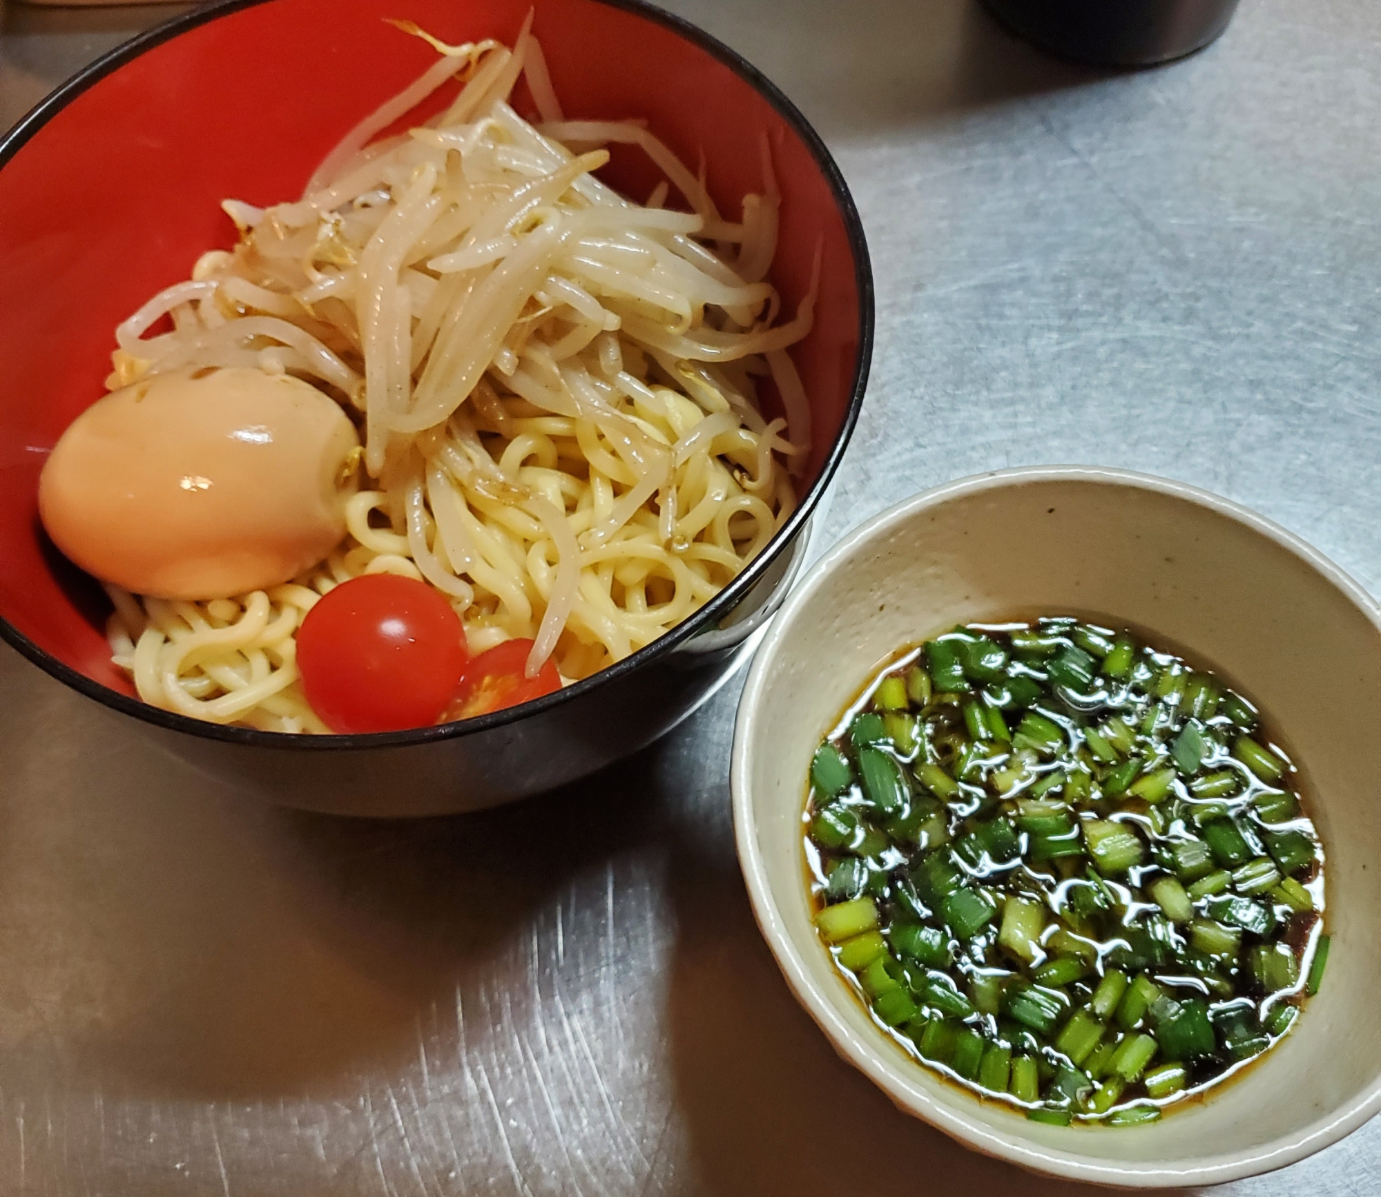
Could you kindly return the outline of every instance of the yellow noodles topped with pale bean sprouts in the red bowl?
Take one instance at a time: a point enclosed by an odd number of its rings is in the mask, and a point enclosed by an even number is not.
[[[533,641],[565,681],[652,643],[726,586],[790,514],[809,408],[766,282],[779,196],[722,220],[632,122],[568,120],[541,47],[452,47],[360,120],[278,207],[226,202],[242,238],[117,329],[110,386],[251,365],[325,390],[362,427],[348,535],[291,583],[168,603],[108,587],[109,639],[146,702],[196,719],[323,733],[296,629],[365,574],[424,579],[471,652]],[[526,77],[543,124],[514,112]],[[378,135],[421,100],[449,106]],[[610,142],[666,176],[646,207],[592,177]],[[692,209],[663,207],[679,195]],[[728,247],[724,256],[720,247]],[[170,332],[153,332],[171,317]],[[757,409],[771,376],[786,420]],[[356,451],[358,453],[359,451]]]

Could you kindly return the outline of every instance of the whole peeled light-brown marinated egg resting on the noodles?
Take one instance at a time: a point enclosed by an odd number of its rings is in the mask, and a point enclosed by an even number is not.
[[[159,598],[276,586],[345,536],[359,438],[291,375],[156,375],[87,408],[39,481],[52,542],[105,582]]]

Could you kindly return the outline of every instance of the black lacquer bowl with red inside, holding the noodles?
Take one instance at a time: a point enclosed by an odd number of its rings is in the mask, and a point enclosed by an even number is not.
[[[233,245],[224,198],[296,198],[356,120],[434,61],[384,18],[416,21],[449,41],[511,44],[530,8],[568,116],[645,117],[684,160],[695,164],[703,152],[710,191],[731,217],[746,192],[761,188],[768,137],[783,195],[772,281],[787,311],[823,249],[815,330],[793,351],[815,424],[798,510],[685,623],[522,708],[414,731],[289,737],[138,702],[109,661],[104,594],[47,542],[36,507],[48,451],[104,393],[115,326],[186,278],[200,253]],[[523,101],[519,90],[519,109]],[[655,181],[632,152],[616,153],[606,177],[637,196]],[[782,558],[800,550],[853,427],[871,332],[863,231],[824,145],[753,66],[677,18],[634,0],[211,3],[102,58],[0,142],[0,634],[55,677],[133,716],[131,727],[202,767],[238,771],[280,802],[398,814],[483,806],[561,784],[695,709],[737,659],[743,637],[724,630],[726,616],[747,628],[755,611],[780,600]],[[405,746],[428,751],[399,755]],[[374,762],[383,762],[377,771]],[[421,796],[420,784],[428,786]]]

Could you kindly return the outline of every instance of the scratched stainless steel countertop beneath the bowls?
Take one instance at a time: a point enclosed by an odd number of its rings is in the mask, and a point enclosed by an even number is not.
[[[801,104],[869,227],[831,538],[947,477],[1102,462],[1381,589],[1381,7],[1247,0],[1128,76],[965,0],[674,7]],[[167,11],[11,4],[0,123]],[[793,1005],[733,858],[736,692],[569,792],[349,824],[207,789],[0,651],[0,1193],[1077,1190],[902,1117]],[[1378,1176],[1373,1122],[1221,1191]]]

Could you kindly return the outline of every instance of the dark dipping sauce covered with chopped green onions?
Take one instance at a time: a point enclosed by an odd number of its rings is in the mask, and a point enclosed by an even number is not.
[[[1027,1117],[1134,1125],[1286,1035],[1323,849],[1257,708],[1142,637],[968,625],[811,766],[816,926],[874,1020]]]

